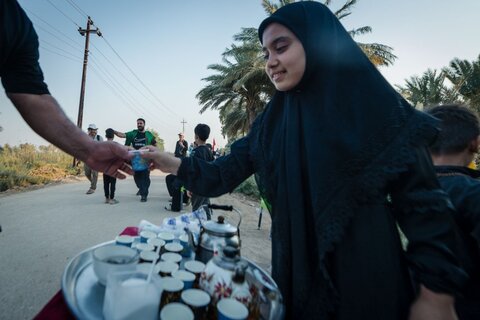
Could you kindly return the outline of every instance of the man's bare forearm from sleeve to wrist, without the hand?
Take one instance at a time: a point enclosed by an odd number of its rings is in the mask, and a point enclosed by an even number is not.
[[[48,94],[7,94],[28,125],[48,142],[84,161],[93,140],[79,129]]]

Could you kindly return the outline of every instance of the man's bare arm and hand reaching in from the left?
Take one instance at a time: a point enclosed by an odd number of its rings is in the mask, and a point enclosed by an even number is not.
[[[8,97],[36,133],[92,169],[120,179],[125,175],[118,170],[133,173],[125,163],[131,158],[126,147],[92,140],[67,118],[51,95],[8,93]]]

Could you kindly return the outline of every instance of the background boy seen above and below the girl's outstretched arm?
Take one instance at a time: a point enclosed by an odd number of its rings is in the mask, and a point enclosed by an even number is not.
[[[211,147],[208,147],[206,143],[208,137],[210,136],[210,127],[206,124],[199,123],[194,129],[195,132],[195,144],[196,148],[193,149],[190,157],[195,157],[205,161],[213,161],[213,153]],[[210,204],[210,198],[203,197],[199,194],[188,192],[188,196],[192,201],[192,211],[198,210],[200,207],[204,207],[205,213],[207,214],[207,219],[211,219],[211,210],[208,208]]]

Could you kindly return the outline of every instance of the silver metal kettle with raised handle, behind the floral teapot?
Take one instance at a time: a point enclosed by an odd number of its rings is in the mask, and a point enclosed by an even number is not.
[[[189,246],[195,251],[195,259],[207,263],[214,255],[217,255],[225,246],[232,246],[240,250],[240,223],[242,214],[232,206],[208,205],[211,209],[235,211],[238,213],[237,226],[232,226],[225,221],[224,216],[218,216],[217,221],[209,220],[201,223],[198,244],[195,243],[192,232],[187,230]]]

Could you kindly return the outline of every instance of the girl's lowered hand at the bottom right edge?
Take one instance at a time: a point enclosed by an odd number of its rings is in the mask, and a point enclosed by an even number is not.
[[[410,307],[409,320],[458,320],[454,298],[420,285],[420,293]]]

